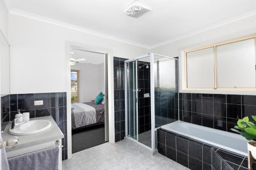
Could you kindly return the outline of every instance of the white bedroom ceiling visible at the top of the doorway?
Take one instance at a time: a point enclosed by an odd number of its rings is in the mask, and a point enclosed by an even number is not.
[[[75,49],[73,49],[72,52],[74,53],[72,55],[74,59],[86,59],[86,61],[81,61],[79,63],[101,64],[104,62],[104,54],[92,53]]]

